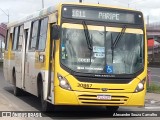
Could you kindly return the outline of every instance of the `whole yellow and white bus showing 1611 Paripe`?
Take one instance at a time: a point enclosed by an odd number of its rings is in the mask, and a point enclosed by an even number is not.
[[[63,3],[8,24],[5,80],[54,105],[144,106],[147,41],[140,11]]]

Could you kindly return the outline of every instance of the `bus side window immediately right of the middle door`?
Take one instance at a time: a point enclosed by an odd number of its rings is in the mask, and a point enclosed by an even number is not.
[[[38,31],[39,31],[39,21],[37,20],[37,21],[34,21],[32,24],[29,50],[34,51],[36,49],[36,43],[37,43],[37,39],[38,39]]]

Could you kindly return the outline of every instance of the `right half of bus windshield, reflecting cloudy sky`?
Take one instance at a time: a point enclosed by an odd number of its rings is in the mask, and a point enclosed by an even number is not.
[[[137,72],[143,66],[143,38],[140,34],[125,33],[117,46],[112,51],[111,35],[118,33],[107,32],[106,60],[108,66],[113,67],[113,73],[131,74]],[[113,39],[114,40],[114,39]],[[114,52],[114,54],[112,54]]]

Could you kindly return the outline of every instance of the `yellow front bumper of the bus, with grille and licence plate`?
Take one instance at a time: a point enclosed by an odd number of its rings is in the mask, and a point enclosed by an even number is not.
[[[144,106],[145,102],[145,90],[138,93],[91,93],[56,87],[55,93],[55,105]]]

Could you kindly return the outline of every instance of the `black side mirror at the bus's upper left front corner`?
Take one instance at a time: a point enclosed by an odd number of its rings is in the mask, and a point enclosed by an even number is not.
[[[52,40],[58,40],[60,34],[60,27],[59,25],[53,25],[51,28],[51,38]]]

